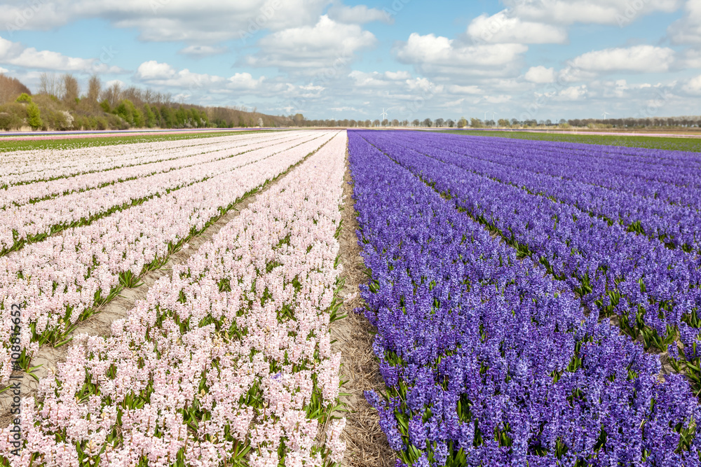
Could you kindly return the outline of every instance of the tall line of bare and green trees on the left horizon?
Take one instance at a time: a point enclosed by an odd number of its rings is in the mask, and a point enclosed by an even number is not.
[[[169,92],[104,86],[91,76],[84,89],[72,74],[42,74],[35,94],[0,74],[0,129],[128,130],[129,128],[282,127],[292,121],[245,107],[177,103]]]

